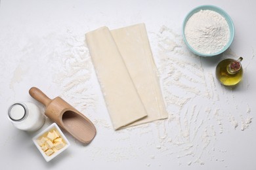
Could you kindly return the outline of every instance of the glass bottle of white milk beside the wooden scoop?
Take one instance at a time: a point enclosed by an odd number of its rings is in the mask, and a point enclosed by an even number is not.
[[[12,124],[24,131],[36,131],[45,123],[39,107],[30,102],[14,103],[8,110]]]

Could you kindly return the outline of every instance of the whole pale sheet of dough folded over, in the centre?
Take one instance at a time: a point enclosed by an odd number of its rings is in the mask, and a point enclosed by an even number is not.
[[[85,37],[114,129],[167,118],[144,24]]]

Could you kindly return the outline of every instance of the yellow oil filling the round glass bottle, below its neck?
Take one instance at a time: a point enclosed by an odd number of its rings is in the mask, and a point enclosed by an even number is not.
[[[233,61],[236,61],[236,60],[224,59],[216,67],[216,76],[218,80],[221,82],[221,84],[225,86],[234,86],[242,80],[242,76],[243,76],[242,66],[240,70],[234,73],[230,73],[230,71],[228,70],[228,65],[230,65],[230,63],[232,63]]]

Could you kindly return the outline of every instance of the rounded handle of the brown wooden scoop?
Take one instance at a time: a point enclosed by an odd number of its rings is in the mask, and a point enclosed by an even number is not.
[[[39,88],[30,88],[29,93],[34,99],[45,105],[45,107],[47,107],[52,101],[49,97],[47,97],[47,95],[45,95],[45,93],[39,90]]]

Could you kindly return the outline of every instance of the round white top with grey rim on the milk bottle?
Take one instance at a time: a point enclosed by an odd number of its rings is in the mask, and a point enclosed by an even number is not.
[[[27,113],[28,109],[23,103],[14,103],[13,105],[11,105],[8,112],[9,118],[16,122],[24,120],[28,115]]]

